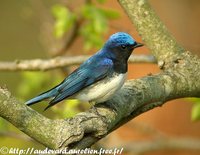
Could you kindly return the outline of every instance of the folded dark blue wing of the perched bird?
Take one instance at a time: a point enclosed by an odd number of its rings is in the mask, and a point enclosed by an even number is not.
[[[58,95],[49,102],[46,109],[105,78],[112,67],[112,60],[107,58],[84,64],[57,86]]]

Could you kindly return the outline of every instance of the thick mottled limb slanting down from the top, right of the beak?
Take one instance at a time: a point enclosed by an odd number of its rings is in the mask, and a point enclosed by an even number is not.
[[[166,61],[166,58],[173,58],[184,51],[170,35],[148,0],[118,1],[158,61]]]

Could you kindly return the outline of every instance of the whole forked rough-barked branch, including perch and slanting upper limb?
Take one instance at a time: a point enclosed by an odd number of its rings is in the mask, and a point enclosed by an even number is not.
[[[50,120],[0,89],[0,116],[49,148],[85,148],[166,101],[200,96],[200,59],[178,45],[146,0],[119,0],[162,69],[126,82],[113,99],[66,120]]]

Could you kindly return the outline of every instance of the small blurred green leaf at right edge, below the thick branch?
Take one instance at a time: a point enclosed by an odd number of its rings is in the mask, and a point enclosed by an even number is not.
[[[189,100],[193,102],[191,119],[193,121],[200,120],[200,98],[191,98]]]

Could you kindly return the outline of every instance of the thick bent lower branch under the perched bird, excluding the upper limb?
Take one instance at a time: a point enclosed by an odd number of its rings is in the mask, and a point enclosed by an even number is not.
[[[187,53],[186,58],[189,58]],[[200,62],[195,57],[191,62]],[[196,61],[195,61],[196,60]],[[50,120],[20,103],[4,89],[0,90],[0,116],[17,128],[50,148],[89,147],[130,119],[161,106],[164,102],[200,94],[200,73],[185,69],[190,61],[177,64],[177,70],[148,76],[125,84],[112,100],[95,105],[74,118]],[[186,64],[187,63],[187,64]],[[197,77],[194,76],[198,74]],[[98,112],[98,114],[96,113]]]

